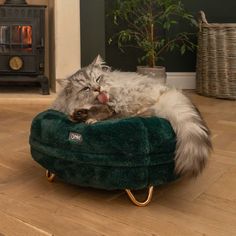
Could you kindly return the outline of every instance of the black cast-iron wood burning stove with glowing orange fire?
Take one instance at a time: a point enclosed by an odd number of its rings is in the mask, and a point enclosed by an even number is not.
[[[45,68],[45,8],[25,0],[0,5],[0,82],[39,82],[49,94]]]

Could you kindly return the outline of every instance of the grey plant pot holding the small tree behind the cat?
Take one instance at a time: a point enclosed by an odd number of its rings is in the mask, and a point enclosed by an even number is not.
[[[142,75],[156,79],[159,83],[166,83],[166,68],[164,66],[137,66],[137,72]]]

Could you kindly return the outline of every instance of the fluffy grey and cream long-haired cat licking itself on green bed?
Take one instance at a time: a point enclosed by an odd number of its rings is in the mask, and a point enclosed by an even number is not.
[[[99,56],[63,83],[52,109],[72,116],[75,111],[100,104],[119,117],[165,118],[177,136],[176,173],[196,176],[203,170],[212,148],[209,130],[196,107],[180,91],[136,73],[111,71]],[[99,113],[99,109],[96,111]],[[95,119],[111,118],[108,113]]]

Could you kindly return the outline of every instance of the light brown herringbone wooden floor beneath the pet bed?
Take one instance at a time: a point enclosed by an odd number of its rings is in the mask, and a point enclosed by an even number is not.
[[[236,235],[236,102],[191,97],[212,131],[214,154],[199,178],[155,189],[145,208],[122,191],[47,182],[28,136],[49,102],[1,104],[0,236]]]

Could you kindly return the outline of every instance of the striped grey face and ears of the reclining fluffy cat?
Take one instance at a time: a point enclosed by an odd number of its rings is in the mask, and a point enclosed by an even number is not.
[[[108,67],[97,57],[89,66],[77,71],[64,84],[66,99],[73,108],[82,108],[96,104],[102,91],[101,84]],[[71,108],[72,109],[72,108]]]

